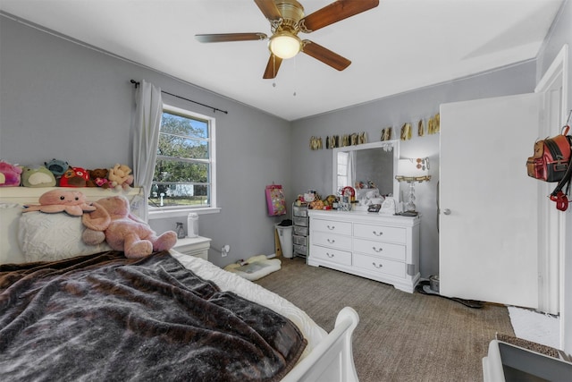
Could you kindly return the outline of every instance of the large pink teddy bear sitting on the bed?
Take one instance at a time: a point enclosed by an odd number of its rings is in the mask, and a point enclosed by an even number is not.
[[[122,195],[99,199],[96,210],[82,216],[86,229],[83,242],[97,244],[105,233],[105,242],[114,250],[122,250],[128,259],[144,258],[153,251],[170,250],[177,243],[177,233],[158,235],[147,223],[130,213],[129,200]]]

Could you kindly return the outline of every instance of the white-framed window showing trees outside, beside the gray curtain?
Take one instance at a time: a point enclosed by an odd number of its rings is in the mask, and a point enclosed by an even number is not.
[[[215,208],[214,118],[164,105],[151,211]]]

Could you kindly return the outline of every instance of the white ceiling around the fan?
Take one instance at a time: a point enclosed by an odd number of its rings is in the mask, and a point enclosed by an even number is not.
[[[299,1],[306,14],[332,2]],[[262,79],[265,41],[194,38],[270,36],[253,0],[0,0],[0,10],[293,121],[534,59],[562,1],[380,0],[300,34],[349,58],[348,69],[300,54],[274,80]]]

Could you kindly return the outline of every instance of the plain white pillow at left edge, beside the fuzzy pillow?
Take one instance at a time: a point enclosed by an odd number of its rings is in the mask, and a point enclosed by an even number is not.
[[[18,203],[0,203],[0,264],[25,263],[24,255],[18,245],[18,224],[21,205]]]

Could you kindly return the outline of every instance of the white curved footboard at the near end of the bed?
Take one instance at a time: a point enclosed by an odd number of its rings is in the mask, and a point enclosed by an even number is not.
[[[356,310],[349,307],[340,310],[332,332],[282,382],[357,382],[351,336],[358,322]]]

